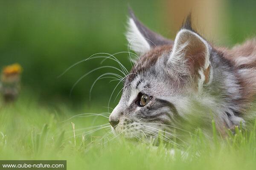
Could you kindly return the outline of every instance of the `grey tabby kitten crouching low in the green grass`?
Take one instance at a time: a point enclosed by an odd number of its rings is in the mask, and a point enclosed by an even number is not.
[[[189,15],[172,41],[146,28],[132,11],[126,37],[140,57],[109,117],[115,133],[156,136],[184,122],[211,127],[212,119],[221,133],[245,125],[256,94],[256,40],[217,47],[192,28]]]

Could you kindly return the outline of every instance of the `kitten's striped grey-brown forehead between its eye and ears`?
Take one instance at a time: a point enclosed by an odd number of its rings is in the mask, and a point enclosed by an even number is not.
[[[182,91],[182,83],[169,74],[166,65],[171,52],[172,45],[163,45],[140,57],[125,79],[121,100],[125,101],[126,105],[133,102],[140,92],[149,96],[164,97]]]

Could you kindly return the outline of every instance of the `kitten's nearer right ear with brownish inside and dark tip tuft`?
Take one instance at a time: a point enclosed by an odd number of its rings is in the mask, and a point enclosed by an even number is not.
[[[177,33],[169,63],[181,75],[191,75],[199,84],[210,79],[211,47],[204,38],[193,31],[190,17]]]

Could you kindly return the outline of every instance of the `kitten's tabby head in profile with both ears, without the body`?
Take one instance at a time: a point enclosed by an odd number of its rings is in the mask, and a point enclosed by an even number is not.
[[[116,133],[126,137],[156,135],[186,119],[192,101],[212,84],[210,58],[218,53],[192,29],[190,16],[172,41],[150,31],[131,13],[126,36],[140,56],[109,121]],[[215,103],[209,100],[209,105]]]

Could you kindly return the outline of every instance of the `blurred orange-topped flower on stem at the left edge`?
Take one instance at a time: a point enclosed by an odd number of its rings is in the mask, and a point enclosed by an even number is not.
[[[20,93],[21,72],[17,63],[4,67],[1,72],[0,93],[6,103],[14,102]]]

